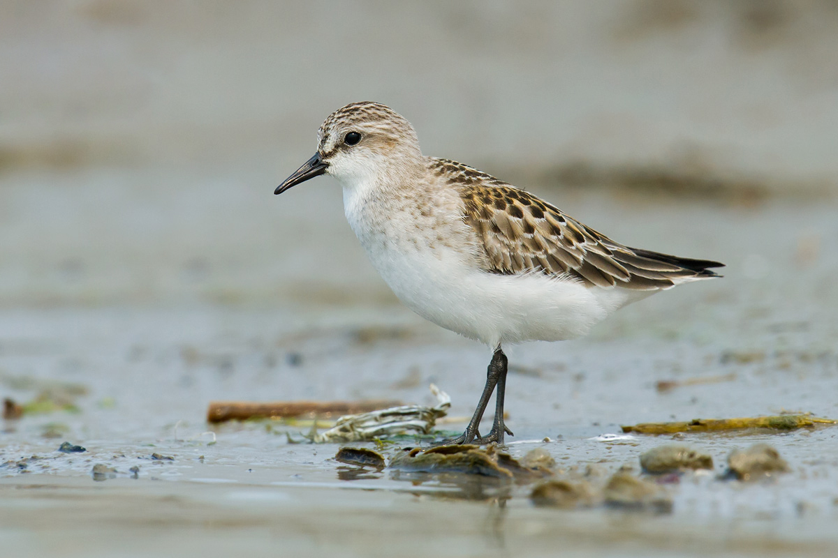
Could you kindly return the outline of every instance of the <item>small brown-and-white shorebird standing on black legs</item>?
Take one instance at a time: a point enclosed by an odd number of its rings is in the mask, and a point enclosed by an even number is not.
[[[587,334],[615,310],[721,277],[711,260],[629,248],[549,202],[458,161],[422,155],[411,123],[374,101],[328,115],[315,154],[275,194],[328,175],[386,284],[408,308],[493,351],[478,405],[446,444],[504,443],[503,346]],[[493,392],[494,421],[478,427]]]

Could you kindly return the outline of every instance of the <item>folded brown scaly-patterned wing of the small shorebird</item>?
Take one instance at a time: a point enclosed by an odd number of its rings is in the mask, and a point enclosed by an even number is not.
[[[496,180],[496,179],[495,179]],[[685,279],[717,277],[718,262],[629,248],[567,217],[529,192],[504,183],[458,182],[463,219],[483,241],[487,271],[568,274],[587,286],[668,289]]]

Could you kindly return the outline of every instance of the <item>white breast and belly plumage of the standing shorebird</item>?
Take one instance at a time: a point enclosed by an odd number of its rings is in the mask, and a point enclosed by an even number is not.
[[[345,192],[344,192],[345,193]],[[347,200],[350,226],[375,269],[416,314],[489,346],[584,335],[626,304],[623,289],[588,289],[545,274],[484,272],[468,253],[468,229],[445,230],[412,214],[370,214]],[[412,222],[411,222],[412,221]],[[418,225],[418,226],[417,226]]]

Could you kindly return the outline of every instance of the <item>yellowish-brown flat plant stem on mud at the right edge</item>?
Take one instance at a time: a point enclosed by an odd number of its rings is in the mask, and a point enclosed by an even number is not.
[[[710,432],[713,430],[741,430],[744,428],[769,428],[772,430],[794,430],[815,427],[819,424],[835,424],[829,418],[812,417],[810,414],[773,415],[771,417],[744,418],[696,418],[690,422],[643,422],[634,426],[623,426],[624,433],[672,434],[677,432]]]

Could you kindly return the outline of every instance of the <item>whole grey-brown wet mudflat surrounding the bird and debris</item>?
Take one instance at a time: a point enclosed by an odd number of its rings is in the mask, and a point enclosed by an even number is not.
[[[420,498],[386,472],[344,490],[336,444],[292,443],[308,426],[205,432],[212,400],[435,404],[432,382],[444,428],[473,412],[489,350],[398,303],[337,182],[273,195],[358,100],[619,242],[727,264],[581,340],[504,347],[510,453],[636,470],[666,440],[597,437],[838,418],[835,0],[2,0],[0,397],[24,413],[0,431],[9,555],[836,554],[834,428],[689,438],[717,474],[754,441],[795,473],[675,479],[671,521],[556,515],[523,488],[437,505],[433,482]],[[93,483],[94,463],[121,478]]]

